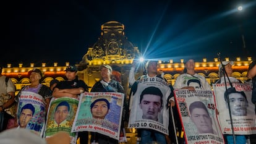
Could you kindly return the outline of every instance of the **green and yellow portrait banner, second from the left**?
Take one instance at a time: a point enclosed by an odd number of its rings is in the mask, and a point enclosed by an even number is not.
[[[51,137],[59,131],[64,131],[69,133],[70,143],[76,143],[77,133],[71,132],[71,129],[78,104],[79,100],[75,98],[51,99],[46,121],[45,138]]]

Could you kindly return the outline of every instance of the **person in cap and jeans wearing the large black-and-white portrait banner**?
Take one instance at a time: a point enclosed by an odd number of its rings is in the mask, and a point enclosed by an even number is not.
[[[168,124],[166,124],[163,121],[167,121],[169,116],[166,116],[166,117],[163,116],[163,111],[167,112],[168,114],[168,111],[166,108],[168,104],[166,103],[169,103],[168,100],[171,97],[171,93],[172,93],[170,88],[171,86],[166,82],[166,80],[164,80],[162,77],[159,77],[157,75],[157,64],[158,64],[157,61],[148,61],[145,65],[145,68],[147,70],[147,75],[141,76],[139,80],[135,81],[132,85],[132,88],[130,90],[131,113],[130,113],[129,125],[134,124],[134,121],[138,121],[138,120],[141,121],[141,119],[145,119],[147,120],[148,125],[151,125],[150,122],[153,120],[156,122],[160,122],[161,124],[164,124],[168,127]],[[146,82],[146,83],[143,84],[141,82]],[[161,90],[158,88],[157,86],[158,82],[165,83],[163,87],[161,87],[163,88],[164,93],[161,92]],[[129,82],[129,83],[132,84],[132,82]],[[156,85],[156,87],[153,87],[153,86],[151,87],[147,85]],[[145,88],[141,89],[142,87],[145,87]],[[139,91],[141,91],[141,93]],[[137,93],[139,93],[139,95]],[[137,102],[139,102],[139,104]],[[137,104],[139,106],[136,106]],[[134,111],[138,110],[137,107],[142,109],[142,117],[137,117],[137,115],[135,114]],[[158,119],[159,117],[161,119]],[[139,127],[138,132],[141,137],[141,141],[140,141],[141,144],[152,143],[154,141],[156,143],[166,143],[166,138],[168,138],[167,135],[165,135],[166,133],[164,134],[159,130],[145,129],[145,128]]]

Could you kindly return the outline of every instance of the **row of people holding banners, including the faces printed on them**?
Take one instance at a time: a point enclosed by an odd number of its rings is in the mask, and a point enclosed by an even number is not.
[[[146,143],[184,143],[184,138],[179,138],[178,142],[175,138],[176,131],[182,131],[180,117],[177,115],[177,108],[174,100],[173,90],[176,89],[187,89],[189,91],[195,90],[211,90],[211,86],[207,82],[206,78],[202,75],[199,75],[195,72],[195,62],[193,59],[188,59],[184,63],[184,74],[179,75],[177,77],[174,85],[168,85],[168,90],[161,91],[157,87],[146,87],[143,90],[140,90],[141,85],[140,82],[147,78],[150,79],[160,79],[166,81],[163,78],[163,75],[158,74],[158,62],[157,61],[148,61],[145,64],[145,69],[147,70],[145,75],[141,75],[139,78],[135,78],[136,68],[138,66],[137,61],[134,60],[132,67],[129,73],[129,85],[130,85],[130,96],[129,96],[129,108],[132,109],[134,107],[134,102],[132,101],[133,96],[137,91],[141,91],[139,95],[139,104],[138,108],[142,110],[141,119],[147,119],[150,121],[161,122],[164,124],[164,116],[163,111],[166,111],[164,108],[172,107],[172,109],[168,109],[169,114],[173,114],[174,116],[169,116],[169,135],[161,133],[157,130],[152,129],[137,129],[139,142],[141,144]],[[233,73],[232,66],[233,61],[223,61],[219,66],[219,76],[220,79],[216,83],[240,83],[241,81],[232,77]],[[252,62],[249,66],[248,78],[252,79],[252,103],[256,104],[256,62]],[[88,91],[88,86],[83,80],[79,80],[77,77],[77,67],[70,65],[66,67],[66,80],[59,82],[54,79],[50,83],[50,87],[46,87],[41,84],[41,78],[43,77],[41,71],[39,69],[33,69],[28,72],[30,78],[30,85],[23,87],[17,96],[14,95],[15,87],[12,83],[11,79],[6,80],[6,76],[1,75],[2,67],[0,68],[0,94],[1,95],[11,95],[11,98],[4,104],[0,106],[0,131],[6,130],[7,124],[11,121],[11,119],[17,119],[19,117],[19,121],[17,124],[14,124],[13,127],[18,127],[19,129],[30,129],[32,124],[28,124],[30,121],[35,121],[38,119],[38,114],[40,116],[45,117],[42,121],[46,121],[48,109],[50,106],[50,101],[52,98],[74,98],[79,99],[81,93]],[[126,93],[124,88],[122,87],[122,83],[117,82],[111,77],[113,69],[109,65],[100,66],[100,75],[101,80],[96,82],[93,85],[92,90],[90,92],[118,92],[118,93]],[[25,96],[27,95],[35,95],[36,98],[39,98],[43,103],[38,107],[30,103],[25,103]],[[230,106],[234,106],[232,109],[232,115],[234,116],[246,116],[248,101],[243,91],[236,91],[234,88],[230,88],[225,92],[225,100],[229,101]],[[239,96],[237,96],[239,95]],[[126,96],[124,95],[124,101],[126,101]],[[239,101],[239,102],[237,102]],[[236,104],[233,104],[236,103]],[[240,103],[240,104],[237,104]],[[12,104],[17,105],[17,109],[20,107],[20,111],[18,111],[16,117],[11,117],[9,114],[5,112],[5,109],[9,108]],[[236,107],[236,108],[235,108]],[[239,107],[239,108],[237,108]],[[126,109],[126,108],[124,108]],[[127,110],[126,112],[128,113]],[[105,98],[100,98],[90,105],[90,111],[92,112],[92,116],[95,119],[105,119],[106,114],[109,111],[109,101]],[[171,112],[170,112],[171,111]],[[190,119],[194,122],[198,133],[216,133],[215,130],[212,129],[211,117],[207,111],[205,105],[200,101],[195,101],[189,106],[190,111]],[[256,109],[255,109],[256,111]],[[162,113],[161,113],[162,112]],[[121,129],[124,128],[124,121],[127,121],[127,113],[122,113],[123,118],[121,121]],[[56,127],[62,127],[62,125],[67,126],[66,119],[70,114],[70,106],[66,101],[62,101],[56,106],[54,109],[54,124]],[[129,116],[129,114],[128,114]],[[36,118],[37,117],[37,118]],[[175,120],[175,121],[174,121]],[[177,125],[174,127],[173,122]],[[207,125],[207,127],[202,127],[200,124]],[[46,124],[47,125],[47,124]],[[72,125],[69,125],[72,127]],[[33,126],[34,127],[34,126]],[[175,129],[175,130],[174,130]],[[42,127],[33,128],[33,130],[38,130],[39,132],[44,130]],[[9,132],[6,130],[6,132]],[[15,130],[15,132],[19,132],[19,130]],[[22,130],[20,132],[23,132]],[[4,132],[0,133],[0,138],[4,137]],[[63,139],[67,140],[64,137],[68,137],[62,133]],[[80,143],[88,143],[88,135],[89,133],[79,132],[78,138],[80,138]],[[91,138],[90,143],[119,143],[118,140],[114,138],[110,138],[106,135],[97,132],[90,132]],[[38,135],[40,137],[40,135]],[[42,135],[41,135],[42,137]],[[59,137],[57,136],[54,137]],[[53,138],[46,138],[45,143],[51,143],[51,140],[55,140]],[[245,135],[236,135],[236,143],[237,144],[245,144],[246,136]],[[224,135],[224,138],[227,143],[233,143],[233,135]],[[2,141],[2,139],[1,139]],[[6,141],[7,142],[7,141]],[[14,141],[15,143],[17,141]],[[1,143],[1,142],[0,142]]]

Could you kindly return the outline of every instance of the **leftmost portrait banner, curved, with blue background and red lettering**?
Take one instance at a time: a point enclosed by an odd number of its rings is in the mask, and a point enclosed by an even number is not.
[[[30,91],[22,91],[17,108],[17,121],[20,128],[29,129],[43,136],[45,130],[46,103],[43,96]]]

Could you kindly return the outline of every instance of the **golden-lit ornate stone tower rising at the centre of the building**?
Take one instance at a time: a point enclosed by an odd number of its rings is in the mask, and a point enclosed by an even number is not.
[[[106,22],[101,25],[100,38],[80,61],[79,77],[92,87],[101,78],[101,64],[109,64],[113,68],[113,78],[127,91],[130,64],[138,54],[139,49],[124,35],[124,25],[116,21]]]

